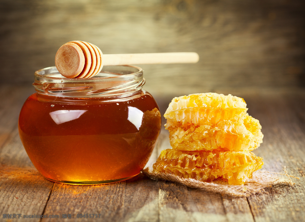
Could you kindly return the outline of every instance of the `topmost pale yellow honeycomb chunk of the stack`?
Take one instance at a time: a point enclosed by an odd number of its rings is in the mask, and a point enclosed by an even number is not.
[[[221,120],[242,121],[246,115],[242,98],[217,93],[200,93],[175,97],[164,117],[180,124],[215,125]]]

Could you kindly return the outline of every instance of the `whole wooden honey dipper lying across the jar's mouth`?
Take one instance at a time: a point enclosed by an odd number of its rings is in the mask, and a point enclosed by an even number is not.
[[[196,52],[108,54],[84,41],[70,41],[56,53],[55,65],[66,78],[89,78],[98,74],[103,65],[196,63]]]

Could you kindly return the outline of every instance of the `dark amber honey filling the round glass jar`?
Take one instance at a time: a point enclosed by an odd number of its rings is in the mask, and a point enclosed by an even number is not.
[[[20,138],[34,166],[45,178],[70,184],[139,174],[160,128],[158,105],[144,90],[119,99],[34,93],[19,116]]]

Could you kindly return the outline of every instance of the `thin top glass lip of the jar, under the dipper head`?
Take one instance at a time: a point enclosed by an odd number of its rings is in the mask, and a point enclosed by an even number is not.
[[[105,79],[105,78],[120,78],[121,76],[131,76],[131,75],[136,75],[136,74],[140,74],[140,73],[143,72],[143,69],[141,67],[138,67],[138,66],[135,66],[135,65],[116,65],[116,67],[122,67],[122,66],[123,67],[131,67],[131,68],[134,68],[134,69],[138,69],[138,71],[137,72],[133,72],[133,73],[129,73],[129,74],[121,74],[121,75],[119,73],[117,73],[118,74],[117,76],[99,76],[99,74],[97,74],[97,75],[95,75],[93,77],[90,77],[90,78],[80,78],[80,79],[77,79],[77,78],[66,78],[66,77],[62,76],[58,72],[58,70],[56,69],[56,66],[50,66],[50,67],[47,67],[47,68],[36,70],[34,75],[37,76],[37,77],[42,77],[42,78],[46,78],[46,79],[53,79],[53,80],[56,80],[56,79],[57,80],[73,80],[73,81],[86,81],[86,80],[88,80],[88,81],[91,82],[92,79],[97,80],[97,79]],[[100,73],[102,73],[104,71],[104,68],[107,68],[107,67],[113,67],[113,66],[103,66],[103,68],[102,68]],[[48,74],[45,71],[51,70],[51,69],[55,69],[58,72],[58,74],[60,74],[62,76],[62,78],[45,76],[46,74]],[[45,73],[42,73],[42,72],[45,72]],[[56,73],[56,72],[54,72],[54,73]]]

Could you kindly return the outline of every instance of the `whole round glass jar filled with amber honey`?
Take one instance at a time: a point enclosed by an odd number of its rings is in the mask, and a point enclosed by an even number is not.
[[[48,180],[101,184],[126,180],[147,163],[161,129],[159,107],[142,90],[136,66],[104,66],[88,79],[66,79],[56,67],[35,72],[19,135]]]

